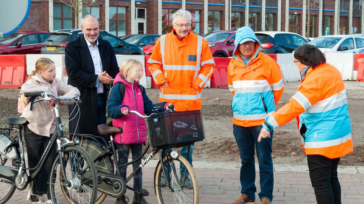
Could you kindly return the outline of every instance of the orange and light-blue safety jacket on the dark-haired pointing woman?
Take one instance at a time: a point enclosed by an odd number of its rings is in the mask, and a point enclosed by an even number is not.
[[[306,154],[339,158],[353,151],[348,101],[340,72],[324,63],[308,68],[297,92],[277,112],[269,113],[264,125],[277,128],[296,117]],[[268,123],[268,124],[267,124]]]

